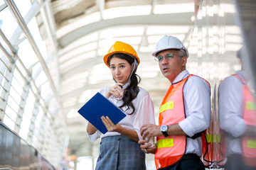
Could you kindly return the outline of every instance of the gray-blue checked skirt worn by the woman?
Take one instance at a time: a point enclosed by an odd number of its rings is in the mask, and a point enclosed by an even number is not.
[[[95,170],[144,170],[145,153],[124,135],[103,137]]]

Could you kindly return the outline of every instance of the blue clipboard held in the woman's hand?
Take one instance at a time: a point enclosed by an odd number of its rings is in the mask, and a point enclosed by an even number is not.
[[[87,103],[78,110],[78,113],[88,120],[88,122],[92,123],[92,125],[103,134],[107,132],[107,128],[104,123],[102,123],[102,115],[109,117],[114,125],[119,123],[119,121],[126,116],[123,111],[117,108],[117,106],[107,100],[107,98],[102,96],[99,92],[87,101]]]

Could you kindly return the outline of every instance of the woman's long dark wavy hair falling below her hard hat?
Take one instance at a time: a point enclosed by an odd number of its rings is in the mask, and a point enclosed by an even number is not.
[[[132,65],[132,63],[134,63],[134,57],[132,57],[130,55],[126,55],[124,53],[116,53],[116,54],[112,55],[110,57],[109,61],[113,57],[117,57],[119,59],[126,60],[130,65]],[[132,103],[132,101],[139,94],[138,84],[141,81],[141,78],[136,74],[136,71],[137,71],[137,66],[135,67],[134,72],[132,72],[129,86],[127,87],[127,89],[124,89],[124,95],[122,97],[123,104],[122,104],[122,106],[119,106],[119,108],[121,108],[121,109],[124,106],[127,106],[128,107],[127,109],[132,108],[132,113],[130,113],[129,115],[132,115],[135,112],[134,104]]]

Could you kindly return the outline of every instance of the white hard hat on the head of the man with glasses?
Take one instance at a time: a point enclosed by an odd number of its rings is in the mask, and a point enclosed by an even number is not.
[[[188,57],[188,50],[183,45],[181,40],[178,40],[178,38],[175,38],[171,35],[164,35],[164,37],[161,38],[159,42],[157,42],[156,50],[152,55],[156,57],[156,54],[158,52],[170,49],[183,50],[183,52],[185,52],[186,57]]]

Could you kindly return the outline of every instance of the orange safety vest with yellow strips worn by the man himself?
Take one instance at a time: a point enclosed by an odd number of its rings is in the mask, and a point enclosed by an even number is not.
[[[188,77],[193,76],[192,74]],[[159,125],[173,125],[186,118],[183,86],[188,77],[171,84],[164,96],[159,111]],[[176,164],[186,151],[186,136],[164,135],[156,138],[155,164],[156,169]]]

